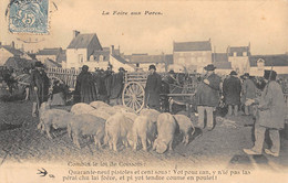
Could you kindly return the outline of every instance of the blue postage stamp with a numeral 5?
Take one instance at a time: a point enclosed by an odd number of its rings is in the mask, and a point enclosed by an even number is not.
[[[49,32],[49,0],[11,0],[9,31],[45,34]]]

